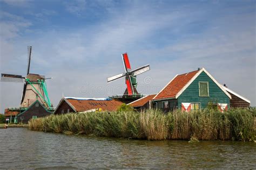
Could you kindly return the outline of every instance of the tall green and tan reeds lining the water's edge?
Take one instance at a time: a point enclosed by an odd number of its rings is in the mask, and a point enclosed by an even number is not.
[[[225,113],[214,110],[163,114],[159,110],[122,111],[107,114],[51,115],[31,119],[30,130],[66,134],[87,134],[148,140],[256,140],[255,110],[233,109]]]

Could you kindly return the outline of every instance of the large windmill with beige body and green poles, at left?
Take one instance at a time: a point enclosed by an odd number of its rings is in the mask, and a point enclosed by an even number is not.
[[[38,100],[44,107],[52,106],[48,96],[48,91],[45,83],[45,76],[39,74],[31,74],[30,60],[32,47],[28,46],[28,68],[26,76],[14,74],[1,74],[1,81],[3,82],[24,82],[22,100],[20,108],[28,108],[30,104]],[[51,78],[48,78],[51,79]]]

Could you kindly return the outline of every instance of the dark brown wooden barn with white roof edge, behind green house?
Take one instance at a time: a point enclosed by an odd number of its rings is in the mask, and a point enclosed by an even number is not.
[[[231,108],[248,108],[250,107],[250,100],[244,96],[235,93],[233,90],[223,86],[223,88],[231,95],[230,107]]]

